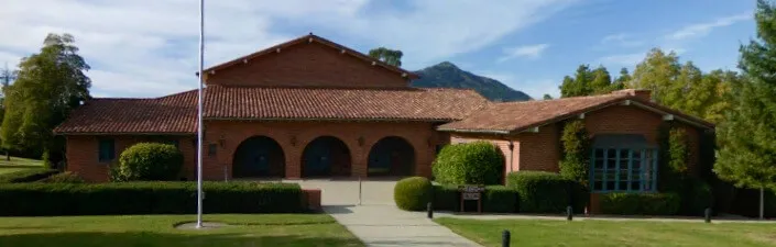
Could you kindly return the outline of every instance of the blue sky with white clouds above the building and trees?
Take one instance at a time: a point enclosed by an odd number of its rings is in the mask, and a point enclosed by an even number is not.
[[[540,99],[580,64],[612,75],[653,47],[704,71],[735,69],[755,36],[755,0],[205,0],[205,66],[315,33],[362,53],[404,53],[403,68],[451,61]],[[48,33],[70,33],[94,97],[195,89],[196,0],[8,0],[0,63],[15,67]]]

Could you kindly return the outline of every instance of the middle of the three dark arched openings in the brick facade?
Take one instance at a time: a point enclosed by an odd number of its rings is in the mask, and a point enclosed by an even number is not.
[[[315,138],[302,154],[302,176],[350,176],[350,149],[334,136]]]

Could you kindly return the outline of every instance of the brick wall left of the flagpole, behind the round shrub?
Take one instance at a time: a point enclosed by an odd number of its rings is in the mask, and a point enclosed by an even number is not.
[[[116,147],[116,158],[112,161],[99,161],[99,139],[112,138]],[[196,144],[192,136],[167,136],[164,138],[177,139],[178,148],[184,155],[184,167],[182,176],[188,179],[195,178],[196,172]],[[106,182],[108,181],[108,166],[118,164],[121,153],[133,144],[141,142],[151,142],[150,136],[85,136],[72,135],[67,136],[66,158],[67,170],[78,173],[87,181]]]

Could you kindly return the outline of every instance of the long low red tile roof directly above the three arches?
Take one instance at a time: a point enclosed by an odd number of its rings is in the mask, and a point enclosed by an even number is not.
[[[233,88],[205,89],[205,119],[461,120],[489,101],[460,89]],[[95,99],[56,133],[194,133],[197,91],[156,99]]]

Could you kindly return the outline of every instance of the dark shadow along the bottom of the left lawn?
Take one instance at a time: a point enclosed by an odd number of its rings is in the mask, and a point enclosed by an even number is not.
[[[172,246],[362,246],[356,238],[332,238],[332,237],[305,237],[298,235],[288,236],[262,236],[260,232],[255,234],[208,234],[207,232],[193,234],[175,233],[149,233],[149,232],[127,232],[127,233],[36,233],[0,235],[0,246],[14,247],[124,247],[124,246],[147,246],[147,247],[172,247]]]

